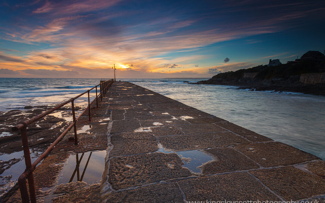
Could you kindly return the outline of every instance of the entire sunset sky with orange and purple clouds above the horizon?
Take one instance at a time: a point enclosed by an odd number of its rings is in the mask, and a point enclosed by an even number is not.
[[[325,1],[0,0],[0,77],[206,77],[325,50]]]

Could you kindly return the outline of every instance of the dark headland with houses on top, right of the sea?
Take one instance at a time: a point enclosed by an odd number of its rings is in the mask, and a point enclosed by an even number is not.
[[[288,91],[325,95],[325,56],[308,51],[300,59],[282,64],[279,59],[249,69],[228,71],[195,84],[238,86],[251,91]]]

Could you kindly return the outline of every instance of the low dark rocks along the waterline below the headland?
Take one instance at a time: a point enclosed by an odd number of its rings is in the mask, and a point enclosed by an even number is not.
[[[299,82],[299,77],[293,76],[289,79],[274,78],[269,80],[256,80],[242,78],[239,81],[220,82],[211,78],[191,84],[214,84],[237,86],[236,89],[250,89],[250,91],[274,91],[274,92],[298,92],[311,95],[325,95],[325,84],[304,84]]]

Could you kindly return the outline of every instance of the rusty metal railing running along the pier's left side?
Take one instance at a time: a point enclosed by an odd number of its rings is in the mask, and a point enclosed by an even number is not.
[[[97,94],[97,87],[100,87],[100,99],[102,100],[102,95],[105,97],[105,92],[108,91],[110,88],[111,84],[113,83],[113,79],[106,80],[105,82],[101,82],[100,84],[94,86],[93,88],[85,91],[84,93],[75,96],[68,101],[65,101],[59,105],[57,105],[54,108],[51,108],[35,117],[32,117],[31,119],[28,119],[26,121],[20,122],[18,125],[14,126],[11,128],[13,132],[19,131],[21,132],[21,141],[22,141],[22,146],[23,146],[23,151],[24,151],[24,159],[25,159],[25,164],[26,164],[26,169],[25,171],[19,176],[18,178],[18,184],[19,184],[19,189],[20,189],[20,195],[21,195],[21,200],[22,202],[29,202],[31,200],[32,203],[36,202],[36,193],[35,193],[35,185],[34,185],[34,178],[33,178],[33,171],[35,170],[37,164],[40,163],[41,160],[45,158],[45,156],[52,150],[52,148],[59,143],[60,139],[66,135],[71,128],[73,127],[74,129],[74,144],[78,144],[78,138],[77,138],[77,127],[76,127],[76,122],[79,120],[79,118],[85,113],[85,111],[88,109],[88,119],[91,121],[90,117],[90,106],[95,102],[96,100],[96,107],[98,107],[98,94]],[[90,102],[90,97],[89,97],[89,92],[93,89],[96,89],[96,97],[95,99]],[[88,93],[88,106],[80,113],[80,115],[76,118],[75,117],[75,112],[74,112],[74,100],[79,98],[80,96]],[[44,116],[52,113],[53,111],[59,109],[60,107],[63,107],[64,105],[68,104],[71,102],[72,106],[72,118],[73,121],[72,123],[68,126],[68,128],[59,135],[59,137],[39,156],[33,163],[31,161],[31,156],[30,156],[30,151],[29,151],[29,146],[28,146],[28,138],[27,138],[27,126],[32,124],[35,121],[38,121],[39,119],[43,118]],[[26,184],[26,179],[28,179],[28,185],[29,185],[29,193],[30,193],[30,199],[28,196],[28,191],[27,191],[27,184]]]

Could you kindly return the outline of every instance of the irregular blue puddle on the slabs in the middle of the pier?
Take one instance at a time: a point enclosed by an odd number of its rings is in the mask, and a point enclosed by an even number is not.
[[[213,160],[211,155],[205,154],[200,150],[173,152],[172,150],[164,149],[161,144],[159,144],[159,150],[157,152],[163,152],[166,154],[169,153],[178,154],[181,157],[182,161],[184,162],[182,167],[188,168],[191,172],[194,173],[201,173],[201,169],[198,167],[202,166],[206,162]]]

